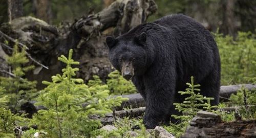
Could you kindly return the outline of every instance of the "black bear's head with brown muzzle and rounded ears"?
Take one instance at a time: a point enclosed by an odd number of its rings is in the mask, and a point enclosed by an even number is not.
[[[133,76],[143,75],[146,69],[146,34],[122,35],[117,38],[106,37],[109,47],[109,59],[123,78],[131,80]]]

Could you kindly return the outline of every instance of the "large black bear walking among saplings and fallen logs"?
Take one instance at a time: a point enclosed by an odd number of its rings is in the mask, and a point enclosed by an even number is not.
[[[184,97],[194,76],[201,84],[200,94],[219,103],[220,56],[210,32],[193,18],[182,14],[162,17],[135,27],[126,34],[106,37],[112,65],[126,80],[131,80],[146,101],[143,123],[155,128],[168,124],[173,105]]]

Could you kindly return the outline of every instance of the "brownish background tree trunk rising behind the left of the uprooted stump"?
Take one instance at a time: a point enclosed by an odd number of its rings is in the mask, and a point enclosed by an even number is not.
[[[37,18],[51,24],[52,9],[50,0],[33,0],[33,7]]]

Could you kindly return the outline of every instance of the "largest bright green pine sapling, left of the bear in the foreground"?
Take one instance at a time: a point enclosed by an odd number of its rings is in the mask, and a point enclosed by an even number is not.
[[[101,122],[90,117],[94,114],[104,116],[126,99],[111,98],[107,85],[89,87],[82,79],[75,78],[79,69],[72,65],[79,62],[72,59],[72,52],[69,51],[68,58],[63,55],[58,58],[67,65],[62,69],[62,75],[52,76],[52,82],[42,82],[48,86],[41,91],[37,104],[48,110],[39,110],[32,123],[37,124],[39,129],[45,129],[52,137],[94,137],[94,131]]]

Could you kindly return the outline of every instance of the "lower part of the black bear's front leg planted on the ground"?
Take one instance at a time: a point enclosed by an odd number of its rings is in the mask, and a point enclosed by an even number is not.
[[[143,119],[146,128],[154,129],[160,122],[164,123],[166,116],[169,115],[169,108],[173,104],[174,89],[168,85],[163,87],[162,84],[165,83],[159,82],[156,84],[158,86],[154,85],[146,90],[146,110]]]

